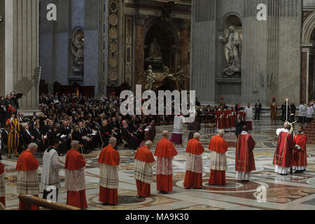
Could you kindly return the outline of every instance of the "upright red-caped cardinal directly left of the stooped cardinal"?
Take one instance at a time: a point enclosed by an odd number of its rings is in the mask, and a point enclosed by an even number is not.
[[[109,139],[109,145],[102,150],[97,161],[101,164],[99,172],[99,202],[111,205],[118,204],[118,166],[120,165],[120,156],[114,148],[116,144],[116,138]]]

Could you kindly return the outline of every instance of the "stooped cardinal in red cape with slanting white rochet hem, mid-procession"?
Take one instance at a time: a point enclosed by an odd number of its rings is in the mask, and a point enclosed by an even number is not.
[[[155,159],[151,152],[152,141],[146,141],[145,146],[138,149],[135,156],[134,179],[136,179],[139,197],[151,196],[151,183],[153,182],[152,167]]]

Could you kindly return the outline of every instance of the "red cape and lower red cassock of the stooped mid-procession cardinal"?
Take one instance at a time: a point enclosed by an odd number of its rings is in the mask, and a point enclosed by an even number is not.
[[[153,157],[153,153],[148,149],[147,146],[143,146],[137,150],[136,156],[134,157],[135,160],[139,160],[141,162],[145,163],[152,163],[155,162],[155,159]],[[137,169],[138,167],[136,167]],[[139,169],[139,168],[138,168]],[[151,168],[152,170],[152,168]],[[142,170],[142,174],[146,175],[146,171]],[[143,181],[139,181],[136,179],[137,183],[137,190],[138,195],[140,197],[150,197],[151,196],[151,184],[145,183]]]

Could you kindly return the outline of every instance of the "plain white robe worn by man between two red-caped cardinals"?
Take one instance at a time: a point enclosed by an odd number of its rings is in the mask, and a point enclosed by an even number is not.
[[[48,152],[48,150],[50,151]],[[41,172],[41,190],[48,186],[60,188],[59,157],[55,148],[48,148],[43,154],[43,170]]]

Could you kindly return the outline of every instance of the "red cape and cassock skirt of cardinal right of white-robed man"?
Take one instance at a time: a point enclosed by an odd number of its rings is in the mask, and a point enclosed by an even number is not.
[[[66,153],[64,169],[68,169],[71,172],[82,169],[83,167],[85,167],[85,160],[83,158],[83,155],[71,148],[71,150]],[[69,204],[73,207],[78,207],[80,209],[86,209],[87,202],[85,189],[79,191],[68,190],[66,195],[66,204]]]

